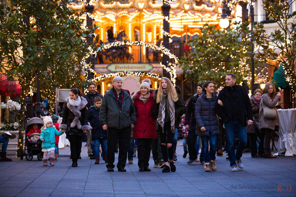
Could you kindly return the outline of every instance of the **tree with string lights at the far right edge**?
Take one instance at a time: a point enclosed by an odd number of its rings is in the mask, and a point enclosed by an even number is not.
[[[263,0],[263,9],[276,21],[279,28],[267,34],[263,24],[258,24],[255,36],[260,38],[257,42],[259,58],[267,64],[276,62],[283,66],[284,71],[281,72],[293,92],[296,92],[296,22],[295,16],[293,19],[289,14],[294,2],[295,0]]]

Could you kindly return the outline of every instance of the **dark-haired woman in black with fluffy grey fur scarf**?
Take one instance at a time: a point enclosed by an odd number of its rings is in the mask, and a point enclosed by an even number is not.
[[[87,101],[80,96],[77,88],[70,90],[70,97],[64,104],[63,121],[59,128],[67,134],[70,141],[72,167],[77,167],[77,159],[81,152],[81,142],[84,133],[90,129],[86,117]]]

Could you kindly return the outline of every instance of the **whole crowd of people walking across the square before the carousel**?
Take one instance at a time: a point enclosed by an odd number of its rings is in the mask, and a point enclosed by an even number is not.
[[[226,86],[218,92],[210,81],[198,84],[197,93],[185,105],[180,88],[168,78],[161,79],[157,90],[150,88],[149,79],[144,79],[140,89],[132,95],[122,89],[122,82],[120,76],[114,77],[113,87],[104,97],[96,92],[95,83],[88,85],[89,92],[84,97],[78,89],[71,89],[64,105],[62,123],[56,125],[57,116],[54,115],[43,120],[41,131],[37,127],[32,128],[32,132],[41,132],[45,166],[48,153],[51,166],[56,159],[55,135],[66,132],[71,144],[73,167],[81,159],[82,137],[87,134],[88,156],[95,159],[95,164],[99,164],[102,157],[110,172],[114,171],[117,148],[118,171],[126,171],[127,159],[129,164],[133,164],[134,140],[137,143],[139,171],[151,171],[149,158],[152,151],[153,167],[162,168],[162,172],[174,172],[180,121],[184,137],[183,157],[189,154],[187,164],[200,162],[205,171],[218,169],[216,154],[223,155],[224,135],[231,171],[244,168],[241,158],[247,136],[250,138],[252,158],[276,158],[271,154],[270,140],[279,127],[275,107],[279,104],[280,93],[276,93],[272,83],[267,83],[263,91],[256,90],[249,98],[246,89],[237,85],[235,75],[230,73],[225,76]],[[238,144],[235,144],[236,138]],[[201,154],[198,158],[200,140]],[[1,155],[2,161],[7,160],[5,158]]]

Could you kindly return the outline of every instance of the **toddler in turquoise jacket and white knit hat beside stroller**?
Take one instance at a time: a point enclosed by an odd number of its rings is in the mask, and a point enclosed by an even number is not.
[[[50,152],[49,160],[50,166],[54,166],[54,150],[55,150],[55,134],[61,135],[63,131],[56,130],[53,127],[52,119],[49,116],[45,116],[43,118],[44,127],[41,130],[40,140],[42,141],[42,152],[43,152],[43,166],[47,166],[47,156],[48,152]]]

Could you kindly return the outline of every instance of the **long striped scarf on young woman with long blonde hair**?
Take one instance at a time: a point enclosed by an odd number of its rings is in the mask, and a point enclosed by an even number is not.
[[[167,109],[167,106],[169,106],[169,109]],[[175,133],[175,103],[172,98],[168,98],[167,89],[163,90],[162,99],[159,102],[158,123],[162,128],[162,132],[164,132],[165,110],[169,111],[171,131]]]

